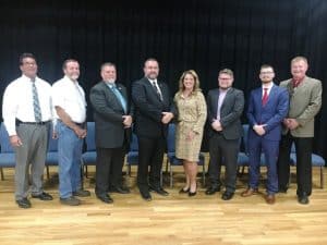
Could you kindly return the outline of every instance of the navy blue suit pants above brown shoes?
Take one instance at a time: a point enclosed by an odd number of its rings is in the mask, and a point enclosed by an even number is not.
[[[251,138],[251,139],[250,139]],[[269,140],[252,133],[249,137],[249,160],[250,160],[250,184],[251,188],[257,188],[261,175],[261,156],[265,155],[267,166],[267,194],[278,192],[277,158],[279,140]]]

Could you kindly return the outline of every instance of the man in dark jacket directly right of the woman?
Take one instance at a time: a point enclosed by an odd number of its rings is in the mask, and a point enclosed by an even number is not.
[[[208,132],[210,186],[206,194],[213,195],[220,192],[220,170],[223,161],[226,191],[221,198],[229,200],[235,192],[238,154],[243,133],[240,117],[244,108],[244,95],[243,91],[231,87],[233,72],[229,69],[219,72],[218,84],[219,88],[209,90],[207,96],[208,123],[210,124]]]

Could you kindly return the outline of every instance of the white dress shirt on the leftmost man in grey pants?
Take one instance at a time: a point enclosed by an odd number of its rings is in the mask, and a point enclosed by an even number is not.
[[[51,86],[39,77],[35,78],[35,86],[38,93],[41,121],[49,121],[52,119]],[[3,94],[2,117],[10,136],[16,135],[16,119],[22,122],[35,122],[29,77],[22,75],[8,85]]]

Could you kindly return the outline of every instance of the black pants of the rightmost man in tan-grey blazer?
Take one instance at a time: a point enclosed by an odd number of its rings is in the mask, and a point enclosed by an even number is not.
[[[292,143],[296,151],[296,194],[312,193],[312,137],[294,137],[290,133],[283,135],[280,142],[278,159],[279,186],[286,188],[290,179],[290,152]]]

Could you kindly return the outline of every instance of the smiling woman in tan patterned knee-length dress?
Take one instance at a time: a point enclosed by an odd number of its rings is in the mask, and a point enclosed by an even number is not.
[[[175,130],[175,157],[183,160],[186,183],[180,193],[196,194],[197,161],[207,118],[205,98],[199,89],[195,71],[185,71],[179,82],[179,91],[174,96],[178,110]]]

